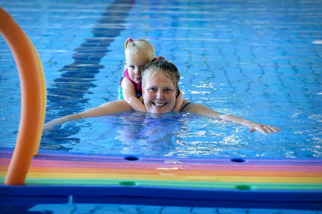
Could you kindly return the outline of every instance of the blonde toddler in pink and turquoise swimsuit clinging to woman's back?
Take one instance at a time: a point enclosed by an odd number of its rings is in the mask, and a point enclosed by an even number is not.
[[[140,100],[142,96],[142,68],[155,58],[154,46],[144,39],[125,41],[125,66],[118,84],[118,99],[124,99],[136,111],[147,111]],[[182,92],[175,101],[173,111],[179,111],[183,102]]]

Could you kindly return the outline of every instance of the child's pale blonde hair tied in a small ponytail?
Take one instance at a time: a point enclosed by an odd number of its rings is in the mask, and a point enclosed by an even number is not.
[[[127,54],[139,54],[151,61],[156,56],[156,50],[154,46],[145,39],[133,41],[131,38],[128,38],[125,41],[125,58]]]

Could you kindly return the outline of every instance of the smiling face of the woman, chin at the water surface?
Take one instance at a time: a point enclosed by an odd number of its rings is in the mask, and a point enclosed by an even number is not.
[[[161,73],[149,78],[144,88],[144,106],[148,112],[163,114],[175,106],[175,87],[170,78]]]

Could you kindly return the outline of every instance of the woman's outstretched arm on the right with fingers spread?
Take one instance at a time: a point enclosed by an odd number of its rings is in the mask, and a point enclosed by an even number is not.
[[[187,102],[189,102],[189,101],[184,100],[183,106]],[[218,112],[215,112],[215,111],[211,110],[210,108],[205,107],[202,104],[191,103],[191,104],[187,105],[186,107],[184,107],[184,109],[182,111],[190,111],[190,112],[198,113],[198,114],[201,114],[204,116],[218,117],[223,120],[231,121],[233,123],[238,123],[243,126],[248,126],[250,128],[250,130],[249,130],[250,132],[254,132],[254,130],[258,130],[261,133],[263,133],[264,135],[267,135],[267,133],[274,134],[274,132],[277,133],[280,131],[280,129],[278,129],[274,126],[269,126],[266,124],[259,124],[259,123],[256,123],[256,122],[253,122],[250,120],[245,120],[241,117],[230,115],[230,114],[224,114],[224,115],[219,114]]]

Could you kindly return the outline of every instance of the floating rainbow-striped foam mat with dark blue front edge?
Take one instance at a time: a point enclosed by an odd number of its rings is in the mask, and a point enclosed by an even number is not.
[[[25,185],[4,185],[12,149],[0,150],[0,203],[117,203],[322,209],[322,159],[117,156],[39,151]]]

